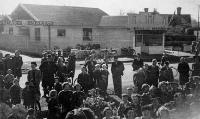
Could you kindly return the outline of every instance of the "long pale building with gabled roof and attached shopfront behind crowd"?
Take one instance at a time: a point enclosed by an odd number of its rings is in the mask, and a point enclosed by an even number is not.
[[[179,13],[177,15],[187,16],[181,17],[181,23],[186,18],[189,26],[190,15]],[[149,12],[148,8],[139,14],[109,16],[98,8],[20,4],[0,21],[4,26],[0,47],[40,53],[54,47],[99,44],[101,48],[119,51],[130,47],[138,53],[161,54],[167,34],[171,36],[174,32],[171,30],[170,34],[168,30],[177,26],[179,18],[173,14]]]

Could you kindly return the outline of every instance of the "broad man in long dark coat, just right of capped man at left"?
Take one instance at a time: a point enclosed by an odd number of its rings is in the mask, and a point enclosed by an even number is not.
[[[52,56],[49,54],[47,56],[47,61],[44,61],[40,65],[39,69],[42,73],[42,87],[44,90],[44,97],[46,97],[46,95],[54,86],[54,75],[56,74],[58,68],[55,62],[52,60]]]

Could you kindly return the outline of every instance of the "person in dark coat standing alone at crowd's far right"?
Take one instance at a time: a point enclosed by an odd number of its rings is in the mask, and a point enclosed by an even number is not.
[[[189,82],[189,71],[190,67],[187,62],[185,62],[185,58],[181,57],[180,63],[178,64],[178,72],[179,76],[179,83],[180,85],[185,85]]]

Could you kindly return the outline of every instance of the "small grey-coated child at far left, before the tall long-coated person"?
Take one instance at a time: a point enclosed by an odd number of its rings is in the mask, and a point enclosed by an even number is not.
[[[5,83],[5,88],[9,89],[12,84],[13,84],[13,80],[14,80],[14,75],[12,74],[12,70],[8,69],[7,74],[4,78],[4,83]]]

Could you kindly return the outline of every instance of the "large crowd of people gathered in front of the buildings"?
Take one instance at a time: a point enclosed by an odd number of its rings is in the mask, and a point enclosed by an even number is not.
[[[190,75],[184,58],[178,64],[177,81],[165,54],[160,63],[153,59],[151,65],[144,64],[137,54],[132,63],[133,83],[126,90],[122,87],[125,66],[117,56],[109,72],[108,60],[98,63],[91,53],[76,79],[74,53],[64,58],[61,51],[45,52],[39,68],[36,62],[31,62],[23,89],[19,85],[23,64],[20,52],[1,59],[1,104],[10,107],[23,104],[28,110],[24,117],[27,119],[39,118],[35,110],[41,110],[41,97],[48,103],[47,119],[189,119],[197,116],[200,108],[200,77]],[[107,93],[110,74],[113,92],[119,100],[111,100]],[[7,118],[21,119],[13,114]]]

